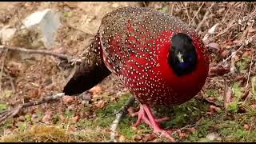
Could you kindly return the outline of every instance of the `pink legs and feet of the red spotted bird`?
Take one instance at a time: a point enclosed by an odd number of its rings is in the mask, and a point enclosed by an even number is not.
[[[171,142],[175,142],[174,138],[170,136],[170,131],[168,130],[162,130],[162,128],[159,126],[159,122],[164,122],[168,120],[169,118],[159,118],[157,119],[152,111],[150,110],[150,107],[146,104],[140,105],[140,110],[138,111],[138,120],[134,124],[135,127],[141,124],[141,122],[145,122],[148,124],[151,128],[154,129],[154,134],[160,134],[166,138],[168,138]]]

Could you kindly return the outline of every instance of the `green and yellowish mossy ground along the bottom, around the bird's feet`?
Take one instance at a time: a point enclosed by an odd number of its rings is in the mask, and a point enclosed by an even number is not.
[[[123,94],[118,102],[110,102],[102,109],[96,111],[96,117],[81,119],[79,122],[59,123],[47,126],[46,124],[29,124],[20,122],[14,134],[1,137],[1,142],[105,142],[110,138],[110,125],[114,121],[114,113],[119,110],[129,98],[130,94]],[[256,130],[246,130],[245,124],[254,122],[254,113],[238,114],[233,111],[221,110],[215,114],[207,114],[209,104],[191,99],[180,106],[158,107],[154,109],[158,118],[169,116],[170,120],[162,122],[166,129],[182,129],[194,127],[187,138],[179,139],[178,133],[174,138],[179,142],[254,142]],[[70,115],[66,115],[69,117]],[[136,135],[150,134],[151,130],[146,124],[133,128],[137,117],[127,114],[118,125],[118,135],[122,135],[125,142],[136,141]],[[9,119],[0,126],[0,131],[11,126]],[[75,127],[76,130],[69,130]],[[186,130],[186,129],[182,129]],[[207,134],[217,132],[221,139],[210,141]],[[165,138],[158,138],[158,142],[168,142]]]

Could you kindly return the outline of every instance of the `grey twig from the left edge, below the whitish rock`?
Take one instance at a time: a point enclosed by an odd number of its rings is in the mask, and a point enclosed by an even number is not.
[[[2,50],[20,51],[20,52],[28,53],[28,54],[46,54],[46,55],[51,55],[51,56],[54,56],[54,57],[57,57],[60,59],[67,60],[68,62],[70,62],[70,60],[73,59],[68,55],[57,54],[57,53],[51,52],[49,50],[30,50],[30,49],[25,49],[22,47],[0,46],[0,51],[2,51]]]

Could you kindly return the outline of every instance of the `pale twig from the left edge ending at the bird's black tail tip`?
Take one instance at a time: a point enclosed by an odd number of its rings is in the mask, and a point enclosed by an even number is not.
[[[46,97],[46,98],[41,98],[41,99],[39,99],[38,101],[35,101],[35,102],[27,102],[27,103],[18,105],[17,107],[14,107],[10,110],[0,111],[0,123],[2,123],[4,120],[6,120],[6,118],[14,117],[23,108],[40,105],[40,104],[46,103],[46,102],[53,102],[55,100],[58,100],[58,99],[62,98],[64,95],[65,95],[64,93],[54,94],[54,95],[51,95],[51,96]]]

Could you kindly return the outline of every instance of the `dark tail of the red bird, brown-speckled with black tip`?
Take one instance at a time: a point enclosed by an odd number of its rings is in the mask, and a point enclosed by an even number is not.
[[[83,55],[83,58],[64,87],[63,92],[66,95],[81,94],[90,90],[111,73],[102,60],[102,48],[99,44],[98,34],[94,37],[90,49]]]

